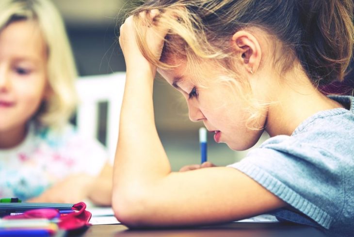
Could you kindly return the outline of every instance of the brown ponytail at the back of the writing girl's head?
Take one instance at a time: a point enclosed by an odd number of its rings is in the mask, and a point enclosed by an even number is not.
[[[313,83],[342,81],[353,54],[352,0],[299,0],[298,57]]]

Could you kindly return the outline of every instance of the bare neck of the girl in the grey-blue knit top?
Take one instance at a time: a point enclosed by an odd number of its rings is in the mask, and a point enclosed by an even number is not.
[[[274,104],[268,109],[266,131],[271,136],[291,135],[305,119],[328,109],[343,107],[315,88],[305,73],[289,74],[274,88]],[[276,93],[275,93],[276,92]]]

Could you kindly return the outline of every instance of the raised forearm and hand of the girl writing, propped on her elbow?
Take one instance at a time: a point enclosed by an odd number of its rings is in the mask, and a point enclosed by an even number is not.
[[[157,14],[159,11],[151,17]],[[146,27],[148,48],[159,58],[167,33],[168,29]],[[146,60],[136,39],[134,19],[130,16],[120,27],[119,36],[127,78],[114,160],[112,202],[118,220],[137,220],[144,208],[155,205],[149,195],[171,172],[154,121],[152,91],[156,67]]]

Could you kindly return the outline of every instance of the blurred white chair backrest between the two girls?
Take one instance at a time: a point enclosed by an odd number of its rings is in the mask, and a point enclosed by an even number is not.
[[[109,152],[110,162],[113,163],[118,139],[120,109],[123,100],[125,72],[106,75],[84,76],[77,80],[79,107],[76,124],[81,135],[98,138],[100,129],[99,103],[107,102],[107,118],[105,128],[105,145]]]

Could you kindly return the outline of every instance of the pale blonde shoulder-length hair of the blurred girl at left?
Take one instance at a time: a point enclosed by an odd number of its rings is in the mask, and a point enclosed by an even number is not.
[[[78,102],[77,72],[63,19],[49,0],[1,0],[0,31],[18,20],[36,22],[47,46],[50,96],[33,119],[43,126],[60,127],[68,121]]]

